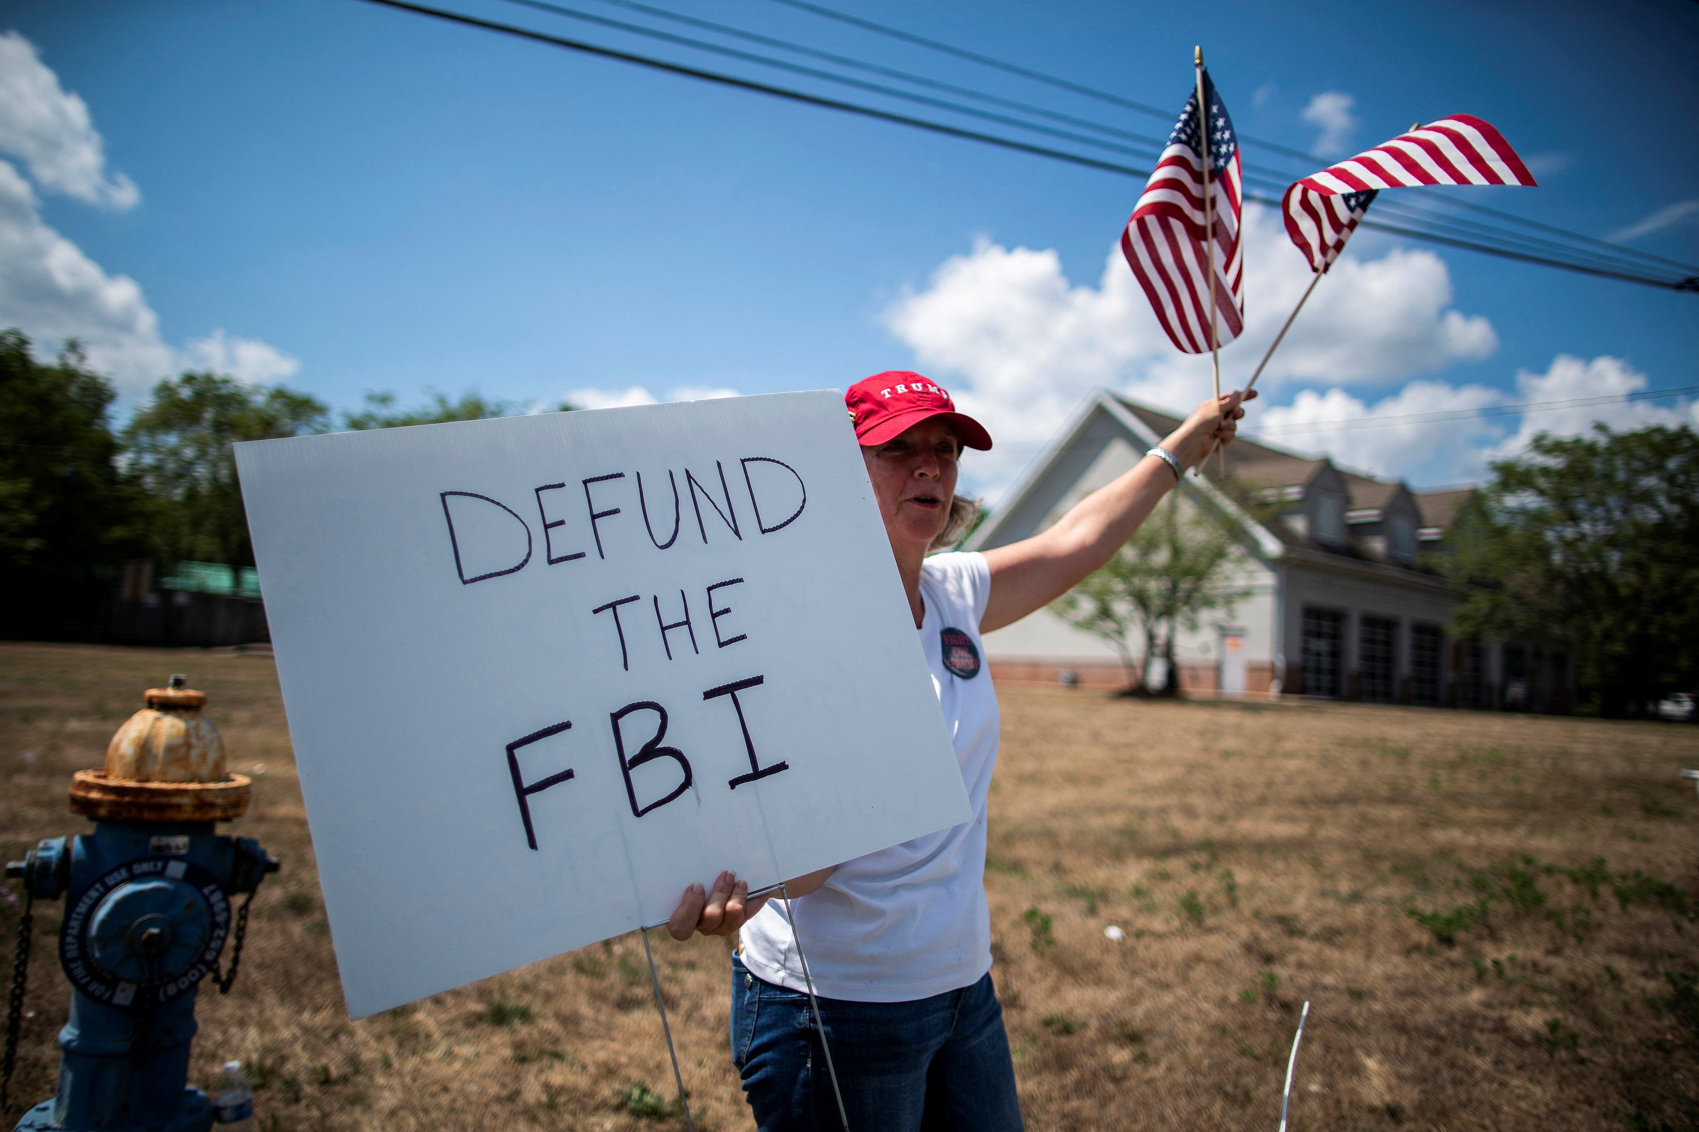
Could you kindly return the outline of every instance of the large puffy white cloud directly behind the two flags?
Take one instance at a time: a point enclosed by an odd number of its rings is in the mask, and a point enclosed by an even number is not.
[[[1244,238],[1252,300],[1245,334],[1222,355],[1223,389],[1250,377],[1312,278],[1273,210],[1250,205]],[[926,289],[892,302],[883,321],[914,351],[917,368],[945,382],[997,440],[965,465],[975,490],[992,496],[1099,385],[1177,412],[1210,390],[1208,355],[1174,350],[1120,248],[1091,287],[1070,283],[1055,251],[980,239],[945,260]],[[1347,251],[1257,387],[1279,394],[1298,382],[1390,382],[1495,348],[1485,317],[1451,309],[1451,277],[1439,256],[1393,249],[1359,260]]]

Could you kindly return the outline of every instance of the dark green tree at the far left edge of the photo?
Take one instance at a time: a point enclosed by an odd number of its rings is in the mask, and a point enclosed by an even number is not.
[[[99,625],[134,502],[114,467],[112,397],[75,343],[46,365],[24,334],[0,331],[0,635]]]

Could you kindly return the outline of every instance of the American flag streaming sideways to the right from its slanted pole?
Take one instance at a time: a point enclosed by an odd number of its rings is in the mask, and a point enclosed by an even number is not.
[[[1381,188],[1532,183],[1504,134],[1478,117],[1453,114],[1295,182],[1281,210],[1310,270],[1325,272]]]

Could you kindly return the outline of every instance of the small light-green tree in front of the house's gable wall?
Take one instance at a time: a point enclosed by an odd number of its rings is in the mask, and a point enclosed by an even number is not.
[[[1057,597],[1052,609],[1115,645],[1128,691],[1143,691],[1164,630],[1172,642],[1177,630],[1196,630],[1206,614],[1250,592],[1230,577],[1232,567],[1245,560],[1244,536],[1232,516],[1196,504],[1183,511],[1179,494],[1172,494],[1103,569]]]

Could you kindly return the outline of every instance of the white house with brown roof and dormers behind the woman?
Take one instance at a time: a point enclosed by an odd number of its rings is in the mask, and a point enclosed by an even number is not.
[[[1098,392],[1057,445],[967,541],[985,550],[1045,530],[1132,468],[1177,417]],[[1473,489],[1412,492],[1327,458],[1240,440],[1181,484],[1181,506],[1216,507],[1245,530],[1247,596],[1176,638],[1188,691],[1563,711],[1568,660],[1519,645],[1453,640],[1458,589],[1431,567]],[[1257,514],[1235,502],[1256,499]],[[1002,681],[1120,686],[1115,648],[1050,609],[985,636]],[[1069,675],[1072,674],[1072,675]]]

